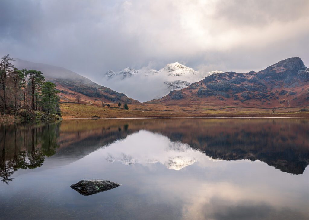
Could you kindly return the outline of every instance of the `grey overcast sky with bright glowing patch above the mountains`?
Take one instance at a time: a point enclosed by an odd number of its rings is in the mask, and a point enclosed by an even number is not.
[[[309,1],[0,0],[0,55],[100,82],[108,69],[259,71],[309,66]]]

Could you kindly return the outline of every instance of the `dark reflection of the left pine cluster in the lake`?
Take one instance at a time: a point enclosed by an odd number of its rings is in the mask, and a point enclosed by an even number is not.
[[[1,181],[8,184],[17,169],[40,167],[45,156],[50,157],[59,147],[57,137],[61,122],[44,125],[0,126]]]

